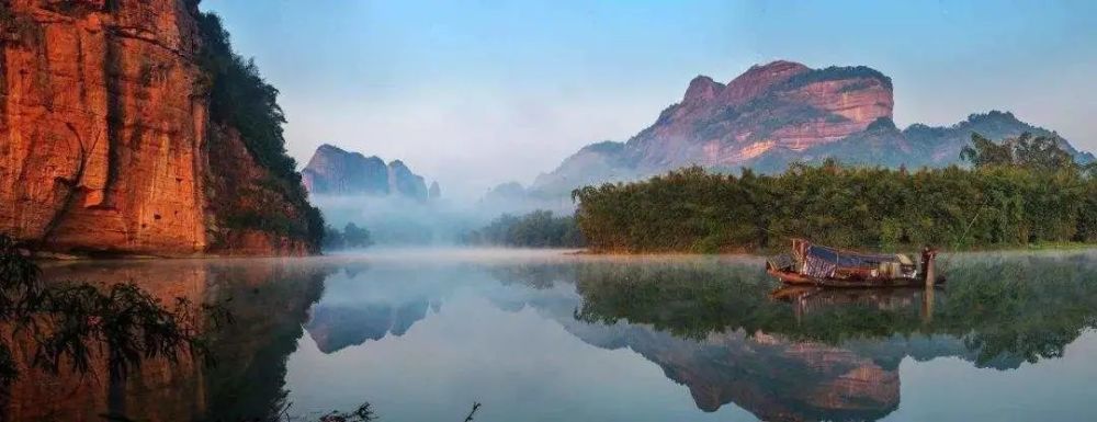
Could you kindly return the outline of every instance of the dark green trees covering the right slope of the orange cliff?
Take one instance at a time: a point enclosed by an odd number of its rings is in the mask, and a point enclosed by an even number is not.
[[[286,155],[282,125],[285,115],[278,104],[278,89],[267,83],[253,60],[233,52],[228,32],[214,13],[197,16],[202,35],[200,66],[208,77],[210,115],[217,124],[236,129],[256,162],[269,172],[264,187],[281,194],[297,209],[285,216],[280,209],[263,215],[227,218],[233,227],[247,227],[304,239],[319,246],[324,218],[307,199],[296,162]],[[215,141],[211,138],[211,142]]]

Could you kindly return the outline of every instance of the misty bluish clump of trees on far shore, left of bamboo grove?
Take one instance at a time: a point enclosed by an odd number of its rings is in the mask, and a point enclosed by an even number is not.
[[[579,248],[585,244],[574,217],[557,217],[550,210],[535,210],[523,216],[505,214],[487,226],[466,233],[462,241],[517,248]]]

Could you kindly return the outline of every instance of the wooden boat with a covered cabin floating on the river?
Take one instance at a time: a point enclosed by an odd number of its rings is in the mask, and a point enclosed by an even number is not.
[[[818,287],[914,287],[945,283],[936,275],[937,250],[925,248],[915,265],[904,254],[863,253],[792,240],[792,252],[766,261],[766,272],[785,284]]]

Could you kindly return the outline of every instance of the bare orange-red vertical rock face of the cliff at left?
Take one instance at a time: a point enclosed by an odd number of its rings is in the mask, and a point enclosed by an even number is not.
[[[305,210],[258,184],[267,171],[210,116],[199,15],[192,0],[0,4],[0,232],[64,252],[312,249],[225,224]]]

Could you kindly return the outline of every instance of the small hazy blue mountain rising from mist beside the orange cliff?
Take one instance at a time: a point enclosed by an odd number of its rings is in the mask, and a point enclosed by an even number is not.
[[[387,164],[376,156],[365,157],[325,144],[316,149],[301,171],[308,192],[328,195],[399,195],[415,199],[441,196],[438,182],[427,182],[400,160]]]

